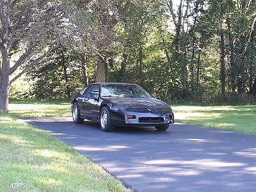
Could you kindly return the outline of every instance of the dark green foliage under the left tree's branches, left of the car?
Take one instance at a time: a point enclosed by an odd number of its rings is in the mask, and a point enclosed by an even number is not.
[[[29,70],[27,76],[33,83],[29,94],[24,97],[30,99],[70,98],[75,88],[84,86],[81,83],[80,65],[81,56],[77,52],[65,48],[55,49],[43,63]],[[93,67],[88,68],[90,79],[92,79]]]

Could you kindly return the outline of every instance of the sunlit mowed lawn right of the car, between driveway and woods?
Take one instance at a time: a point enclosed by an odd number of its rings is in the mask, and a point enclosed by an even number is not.
[[[256,134],[256,106],[173,106],[175,119],[184,124]]]

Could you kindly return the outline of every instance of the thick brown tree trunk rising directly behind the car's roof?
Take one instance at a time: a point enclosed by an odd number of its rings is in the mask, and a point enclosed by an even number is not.
[[[97,59],[97,72],[95,77],[95,83],[105,83],[107,77],[107,70],[106,67],[106,51],[100,50],[98,52],[98,59]]]

